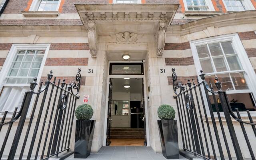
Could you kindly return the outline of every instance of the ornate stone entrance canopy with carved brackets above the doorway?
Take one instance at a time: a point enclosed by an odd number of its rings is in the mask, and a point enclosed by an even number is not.
[[[158,56],[165,44],[165,30],[179,4],[76,4],[88,29],[92,57],[97,55],[98,36],[114,36],[118,42],[136,42],[138,34],[156,36]]]

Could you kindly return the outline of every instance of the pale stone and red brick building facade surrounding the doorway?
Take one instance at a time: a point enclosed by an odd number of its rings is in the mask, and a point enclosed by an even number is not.
[[[212,73],[209,78],[212,75],[221,77],[223,73],[228,74],[223,78],[244,78],[246,91],[229,84],[229,88],[233,88],[232,95],[249,93],[255,100],[256,0],[239,1],[240,4],[231,4],[230,0],[204,0],[205,4],[201,5],[193,5],[189,0],[138,0],[138,4],[115,4],[117,1],[56,0],[53,10],[41,8],[38,11],[41,1],[8,0],[0,16],[1,90],[7,84],[6,76],[17,50],[45,50],[42,64],[36,72],[39,80],[46,80],[46,75],[52,70],[54,76],[69,83],[77,68],[81,68],[79,95],[89,95],[88,104],[94,109],[92,119],[96,120],[93,152],[98,152],[106,144],[109,62],[122,61],[122,54],[127,52],[132,61],[144,60],[145,94],[149,99],[147,139],[148,146],[156,152],[162,152],[156,121],[158,106],[176,106],[172,68],[176,69],[178,81],[183,83],[198,76],[201,69]],[[116,34],[124,32],[135,33],[136,40],[118,40]],[[203,47],[210,48],[209,44],[213,42],[222,45],[224,54],[234,53],[238,57],[233,59],[237,66],[228,67],[231,62],[227,59],[204,61],[202,58],[205,57],[200,56],[197,46],[205,52]],[[221,65],[226,65],[226,69],[218,70]],[[232,76],[231,67],[237,67],[240,74]],[[239,95],[234,98],[238,99]],[[83,103],[80,98],[77,106]],[[8,106],[2,106],[0,112],[4,111],[3,108]],[[74,135],[71,144],[74,148]]]

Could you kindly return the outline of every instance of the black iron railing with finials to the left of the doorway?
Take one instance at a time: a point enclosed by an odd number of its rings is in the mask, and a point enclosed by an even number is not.
[[[30,91],[25,92],[18,113],[16,108],[11,120],[5,122],[6,111],[0,122],[0,135],[5,135],[0,141],[0,159],[6,156],[8,160],[46,160],[70,150],[76,100],[79,99],[80,71],[78,68],[76,82],[70,84],[65,80],[58,80],[56,84],[56,77],[51,71],[44,86],[40,82],[38,92],[34,92],[37,79],[30,82]],[[30,118],[26,120],[28,116]],[[18,125],[14,126],[14,123]],[[15,133],[13,138],[10,133]]]

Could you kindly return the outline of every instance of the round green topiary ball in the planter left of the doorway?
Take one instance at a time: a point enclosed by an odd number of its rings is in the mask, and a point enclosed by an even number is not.
[[[93,115],[92,106],[89,104],[82,104],[76,108],[76,119],[78,120],[90,120]]]

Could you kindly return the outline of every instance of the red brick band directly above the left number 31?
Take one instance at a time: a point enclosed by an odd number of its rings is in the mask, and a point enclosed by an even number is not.
[[[88,58],[47,58],[45,66],[87,66]]]

